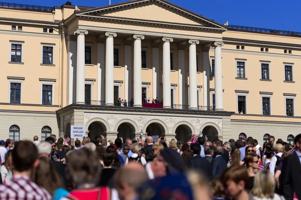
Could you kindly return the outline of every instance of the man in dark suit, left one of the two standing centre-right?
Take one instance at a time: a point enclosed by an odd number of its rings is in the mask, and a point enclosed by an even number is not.
[[[190,149],[193,153],[193,158],[189,160],[188,168],[201,171],[209,179],[210,163],[207,159],[200,156],[201,146],[197,143],[190,144]]]

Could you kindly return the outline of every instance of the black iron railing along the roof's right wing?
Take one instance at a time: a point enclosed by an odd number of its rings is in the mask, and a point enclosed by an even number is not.
[[[230,29],[236,30],[246,30],[246,31],[254,31],[254,32],[266,32],[266,33],[274,33],[274,34],[284,34],[284,35],[298,35],[301,36],[301,32],[289,31],[289,30],[277,30],[277,29],[269,29],[269,28],[258,28],[258,27],[250,27],[243,25],[229,25]]]

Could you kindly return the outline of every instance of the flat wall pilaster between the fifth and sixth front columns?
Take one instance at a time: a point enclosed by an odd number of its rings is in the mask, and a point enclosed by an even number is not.
[[[210,59],[209,47],[203,47],[204,106],[210,106]]]

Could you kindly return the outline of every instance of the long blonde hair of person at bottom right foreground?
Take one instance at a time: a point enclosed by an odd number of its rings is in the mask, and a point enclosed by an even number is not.
[[[275,178],[269,170],[260,170],[254,178],[253,194],[259,198],[273,198]]]

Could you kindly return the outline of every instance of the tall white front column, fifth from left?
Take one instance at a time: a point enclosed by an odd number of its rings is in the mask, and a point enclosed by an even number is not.
[[[189,43],[189,108],[198,109],[197,83],[197,44],[199,40],[190,39]]]

